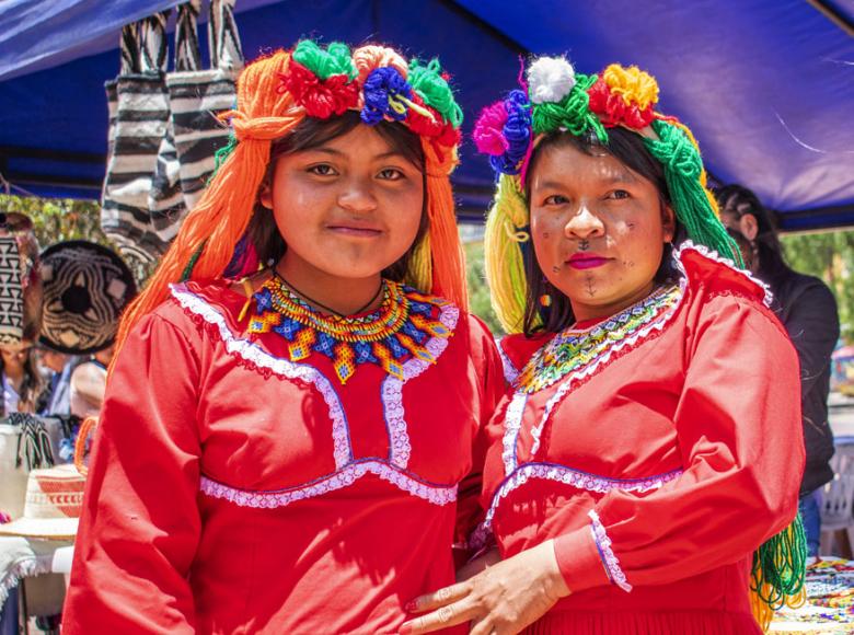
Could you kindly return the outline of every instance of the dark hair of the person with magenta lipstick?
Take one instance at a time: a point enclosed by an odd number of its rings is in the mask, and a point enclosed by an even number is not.
[[[530,216],[531,190],[530,182],[533,173],[536,171],[536,164],[545,150],[552,148],[562,148],[570,146],[576,150],[590,157],[601,154],[603,151],[611,154],[632,172],[639,174],[649,181],[658,190],[659,204],[670,205],[670,193],[667,189],[665,180],[665,169],[646,149],[643,138],[637,132],[632,132],[624,128],[611,128],[608,130],[608,143],[601,143],[591,132],[584,137],[575,137],[569,132],[554,131],[543,138],[531,154],[531,161],[528,166],[528,180],[524,184],[524,194],[528,203]],[[680,235],[680,228],[677,224],[677,236]],[[524,275],[528,281],[528,296],[524,302],[524,319],[522,321],[522,331],[529,337],[536,333],[558,333],[573,322],[573,305],[569,298],[556,291],[549,285],[540,264],[536,262],[536,254],[533,250],[532,241],[522,245],[522,255],[524,259]],[[661,263],[656,273],[655,279],[659,282],[676,277],[676,272],[671,265],[671,250],[665,247],[661,256]],[[549,293],[552,297],[551,307],[541,307],[540,298]],[[538,325],[539,320],[542,321]]]

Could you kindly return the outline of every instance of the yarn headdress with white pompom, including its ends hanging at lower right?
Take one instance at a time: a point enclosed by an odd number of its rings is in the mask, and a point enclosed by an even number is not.
[[[575,72],[563,57],[541,57],[519,83],[521,89],[484,108],[474,128],[477,149],[489,157],[498,176],[484,239],[486,277],[493,308],[508,333],[522,331],[526,309],[522,246],[530,240],[526,172],[536,143],[550,132],[595,135],[603,146],[615,126],[641,135],[665,169],[671,206],[688,238],[742,265],[706,187],[696,140],[685,125],[655,111],[658,84],[651,76],[615,64],[587,76]],[[751,607],[765,630],[775,609],[805,599],[805,545],[798,517],[753,554]]]

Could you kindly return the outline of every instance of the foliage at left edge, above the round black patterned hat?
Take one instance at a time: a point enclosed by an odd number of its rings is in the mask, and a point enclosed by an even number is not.
[[[88,240],[115,250],[101,231],[101,207],[94,200],[49,199],[0,194],[0,212],[16,211],[33,220],[38,244]]]

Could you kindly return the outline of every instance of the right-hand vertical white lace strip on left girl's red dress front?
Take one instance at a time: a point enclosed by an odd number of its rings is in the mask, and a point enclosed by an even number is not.
[[[453,333],[454,328],[457,328],[459,318],[460,310],[457,307],[449,304],[442,308],[441,313],[439,314],[439,322],[441,322],[449,332]],[[438,360],[439,356],[448,348],[448,338],[431,337],[427,342],[426,348],[430,351],[434,359]],[[389,460],[392,465],[406,467],[406,465],[409,464],[409,455],[412,454],[409,434],[406,429],[406,419],[403,408],[403,384],[411,379],[418,377],[430,366],[432,365],[429,361],[413,357],[403,365],[402,380],[393,376],[388,376],[382,381],[380,394],[382,396],[382,412],[383,417],[385,418],[385,427],[389,429]]]

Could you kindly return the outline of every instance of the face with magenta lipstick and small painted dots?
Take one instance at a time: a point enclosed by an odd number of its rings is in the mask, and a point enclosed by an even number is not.
[[[544,148],[530,178],[536,259],[576,320],[612,315],[651,291],[674,232],[651,182],[572,145]]]

